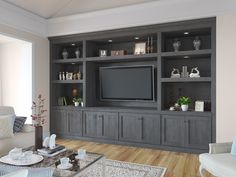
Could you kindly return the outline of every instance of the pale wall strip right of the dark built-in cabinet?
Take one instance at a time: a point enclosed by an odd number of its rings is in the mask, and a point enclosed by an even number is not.
[[[217,16],[216,137],[236,136],[236,13]]]

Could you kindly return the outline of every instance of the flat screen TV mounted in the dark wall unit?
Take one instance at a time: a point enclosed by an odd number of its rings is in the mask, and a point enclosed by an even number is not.
[[[154,101],[154,66],[100,67],[100,99]]]

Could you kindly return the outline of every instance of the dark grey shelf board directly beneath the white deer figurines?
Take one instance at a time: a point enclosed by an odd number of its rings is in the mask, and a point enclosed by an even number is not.
[[[211,78],[210,77],[161,78],[161,82],[211,82]]]

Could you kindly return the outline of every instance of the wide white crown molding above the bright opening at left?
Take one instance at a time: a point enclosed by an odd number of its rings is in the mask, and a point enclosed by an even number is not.
[[[47,37],[46,19],[4,1],[0,1],[0,24]]]

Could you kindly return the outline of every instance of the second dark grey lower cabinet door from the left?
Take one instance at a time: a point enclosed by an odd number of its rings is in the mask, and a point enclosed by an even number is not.
[[[69,134],[82,136],[82,111],[68,111],[67,117]]]

